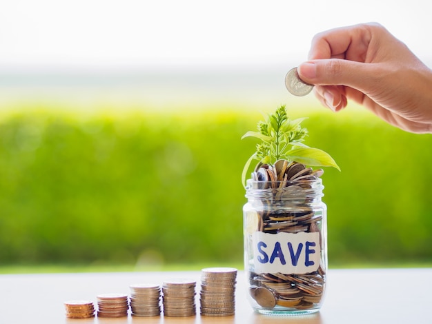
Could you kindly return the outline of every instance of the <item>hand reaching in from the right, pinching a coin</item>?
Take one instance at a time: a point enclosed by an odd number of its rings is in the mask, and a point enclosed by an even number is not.
[[[432,71],[379,24],[317,34],[308,59],[300,78],[331,110],[349,99],[402,130],[432,133]]]

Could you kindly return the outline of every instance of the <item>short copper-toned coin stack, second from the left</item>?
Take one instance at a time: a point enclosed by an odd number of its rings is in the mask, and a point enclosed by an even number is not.
[[[124,317],[128,316],[128,295],[100,294],[97,295],[97,316]]]

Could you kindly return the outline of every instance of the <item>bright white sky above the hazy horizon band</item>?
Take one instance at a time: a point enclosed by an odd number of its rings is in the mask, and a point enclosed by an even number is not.
[[[328,28],[378,21],[432,57],[423,0],[2,0],[0,72],[306,59]]]

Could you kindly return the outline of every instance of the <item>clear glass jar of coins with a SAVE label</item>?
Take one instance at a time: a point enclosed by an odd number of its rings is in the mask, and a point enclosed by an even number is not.
[[[320,310],[327,272],[322,179],[246,183],[244,269],[248,299],[261,314]]]

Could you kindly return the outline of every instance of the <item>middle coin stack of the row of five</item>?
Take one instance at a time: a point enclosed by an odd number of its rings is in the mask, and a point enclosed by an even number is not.
[[[161,287],[149,283],[130,285],[130,309],[132,316],[159,316],[161,314]]]

